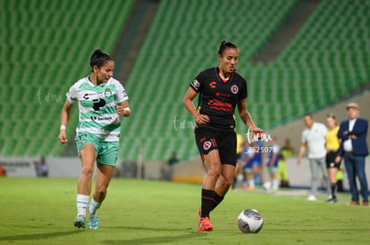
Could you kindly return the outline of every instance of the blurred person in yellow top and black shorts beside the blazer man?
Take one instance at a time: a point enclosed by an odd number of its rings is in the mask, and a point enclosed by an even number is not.
[[[331,195],[329,197],[329,202],[337,202],[337,172],[341,168],[341,161],[335,162],[335,157],[338,154],[338,149],[340,147],[340,140],[337,137],[339,126],[337,125],[337,120],[334,114],[329,114],[326,117],[326,126],[328,127],[328,132],[325,136],[326,141],[326,167],[328,170],[328,176],[330,181]]]

